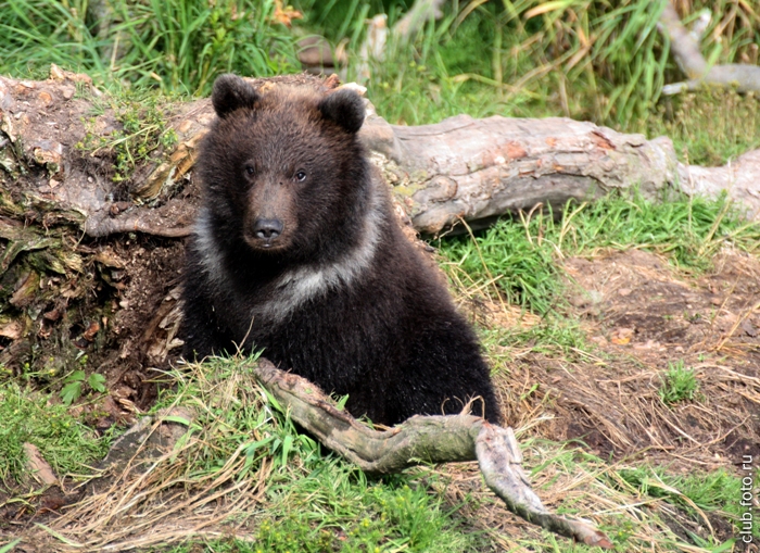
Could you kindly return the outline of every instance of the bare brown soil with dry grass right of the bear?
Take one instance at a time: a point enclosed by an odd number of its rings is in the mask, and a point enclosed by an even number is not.
[[[726,251],[712,272],[689,278],[631,250],[569,259],[565,268],[570,316],[598,352],[519,356],[505,388],[509,423],[549,413],[540,427],[546,438],[683,470],[760,454],[760,261]],[[667,405],[663,374],[679,362],[694,369],[699,394]]]

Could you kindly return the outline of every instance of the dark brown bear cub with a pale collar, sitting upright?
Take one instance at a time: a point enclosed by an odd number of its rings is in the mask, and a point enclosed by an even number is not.
[[[472,329],[402,234],[357,131],[359,96],[223,75],[200,147],[183,355],[264,349],[354,416],[499,410]],[[476,402],[473,411],[481,413]]]

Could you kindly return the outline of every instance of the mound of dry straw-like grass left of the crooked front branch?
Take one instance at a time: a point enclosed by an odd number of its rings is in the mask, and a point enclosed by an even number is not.
[[[245,372],[210,378],[200,365],[188,367],[173,377],[194,385],[150,423],[142,443],[111,466],[106,460],[100,479],[79,485],[94,492],[42,527],[56,539],[56,550],[128,551],[218,537],[241,524],[230,519],[244,521],[256,510],[277,461],[252,448],[265,439],[262,430],[271,429],[273,407]],[[244,425],[250,433],[230,439],[230,416],[253,423]],[[179,439],[159,436],[166,422],[180,426]]]

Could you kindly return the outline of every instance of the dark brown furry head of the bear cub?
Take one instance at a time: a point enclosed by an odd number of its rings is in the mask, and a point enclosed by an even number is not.
[[[212,103],[218,120],[198,165],[217,236],[267,256],[313,259],[315,250],[340,248],[367,202],[359,96],[287,86],[261,92],[223,75]]]

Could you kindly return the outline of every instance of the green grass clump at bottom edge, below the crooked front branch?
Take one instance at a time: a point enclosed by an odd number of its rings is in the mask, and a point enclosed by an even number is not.
[[[441,498],[409,477],[392,480],[372,483],[343,462],[320,463],[274,491],[251,551],[472,551],[478,540],[454,531]]]

